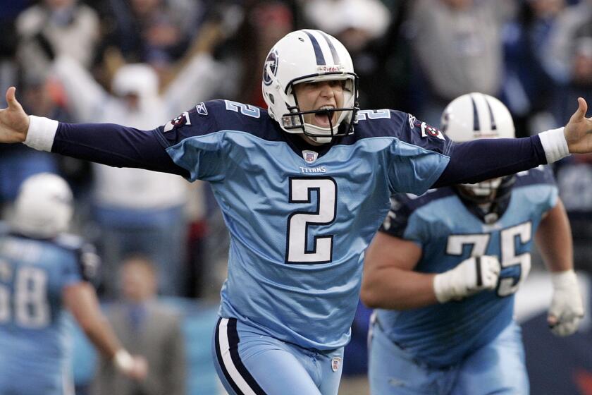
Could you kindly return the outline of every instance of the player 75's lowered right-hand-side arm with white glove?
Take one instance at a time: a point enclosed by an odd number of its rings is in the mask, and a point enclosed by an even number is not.
[[[584,316],[584,305],[574,272],[572,231],[561,200],[541,221],[535,240],[553,281],[547,322],[554,334],[567,336],[576,332]]]

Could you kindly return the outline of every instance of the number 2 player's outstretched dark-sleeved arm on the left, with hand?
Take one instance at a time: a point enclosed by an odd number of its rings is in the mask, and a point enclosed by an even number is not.
[[[177,166],[151,130],[112,123],[58,123],[27,116],[15,97],[6,92],[8,108],[0,109],[0,142],[24,142],[37,150],[90,160],[116,167],[137,167],[187,176]]]

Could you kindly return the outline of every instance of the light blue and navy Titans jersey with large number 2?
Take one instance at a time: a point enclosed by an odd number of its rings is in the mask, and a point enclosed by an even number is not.
[[[230,232],[221,316],[320,350],[347,344],[366,246],[395,191],[422,193],[450,140],[412,116],[361,111],[318,151],[266,111],[216,100],[155,131],[190,178],[209,181]]]

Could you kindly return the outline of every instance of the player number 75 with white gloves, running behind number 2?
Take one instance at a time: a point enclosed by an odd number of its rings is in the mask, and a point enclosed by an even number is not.
[[[510,111],[479,93],[448,105],[443,130],[455,141],[514,137]],[[371,393],[529,394],[512,315],[534,239],[552,272],[549,324],[557,335],[572,334],[584,309],[569,221],[547,167],[394,195],[366,251],[362,282],[362,300],[378,308]]]

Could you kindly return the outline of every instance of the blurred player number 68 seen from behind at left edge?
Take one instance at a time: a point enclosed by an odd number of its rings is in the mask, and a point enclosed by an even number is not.
[[[72,315],[123,374],[146,375],[144,359],[121,347],[87,282],[97,255],[80,238],[63,233],[71,200],[62,178],[32,176],[20,189],[13,224],[0,229],[0,394],[74,393]]]

